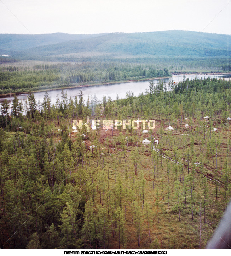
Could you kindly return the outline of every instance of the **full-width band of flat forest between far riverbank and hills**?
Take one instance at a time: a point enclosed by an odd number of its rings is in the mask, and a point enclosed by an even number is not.
[[[200,66],[200,68],[198,68]],[[79,62],[7,63],[0,66],[0,94],[167,77],[193,71],[231,71],[223,58],[81,58]]]

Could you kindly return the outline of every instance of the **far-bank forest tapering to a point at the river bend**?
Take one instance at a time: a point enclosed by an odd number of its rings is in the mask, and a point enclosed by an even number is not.
[[[0,67],[0,94],[171,76],[166,68],[130,63],[60,63]]]

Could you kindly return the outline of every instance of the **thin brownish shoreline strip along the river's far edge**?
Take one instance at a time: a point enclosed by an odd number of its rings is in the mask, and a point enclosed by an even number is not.
[[[217,72],[217,71],[211,71],[211,72],[171,72],[171,74],[174,75],[228,75],[231,74],[231,72]],[[111,82],[97,82],[97,83],[87,83],[87,84],[75,84],[73,83],[71,86],[58,86],[54,88],[48,88],[48,89],[39,89],[39,90],[31,90],[32,93],[34,92],[46,92],[46,91],[54,91],[54,90],[61,90],[61,89],[70,89],[70,88],[82,88],[82,87],[89,87],[89,86],[97,86],[97,85],[111,85],[116,83],[129,83],[129,82],[140,82],[140,81],[151,81],[151,80],[159,80],[159,79],[166,79],[171,78],[173,76],[162,76],[162,77],[152,77],[152,78],[142,78],[142,79],[129,79],[129,80],[116,80]],[[25,92],[12,92],[12,93],[4,93],[0,94],[0,98],[4,98],[7,96],[13,96],[18,94],[28,94],[30,92],[30,88]]]

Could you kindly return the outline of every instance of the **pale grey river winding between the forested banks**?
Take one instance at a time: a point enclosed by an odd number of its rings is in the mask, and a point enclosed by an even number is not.
[[[173,79],[173,82],[180,82],[183,80],[184,75],[173,75],[172,78],[162,78],[163,80],[166,81],[166,84],[168,85],[169,80]],[[221,78],[221,77],[230,77],[230,75],[197,75],[197,78]],[[195,75],[185,75],[185,78],[194,79]],[[158,82],[158,80],[153,80],[154,85]],[[102,100],[103,95],[108,97],[110,95],[112,100],[116,99],[117,94],[119,95],[119,98],[125,98],[126,97],[126,92],[131,91],[134,93],[134,96],[138,96],[139,93],[144,92],[145,89],[149,89],[149,83],[150,80],[148,81],[138,81],[138,82],[126,82],[126,83],[112,83],[112,84],[107,84],[107,85],[92,85],[92,86],[86,86],[86,87],[75,87],[75,88],[67,88],[64,89],[64,92],[67,91],[68,94],[68,99],[72,97],[74,99],[75,96],[78,95],[80,90],[83,91],[83,98],[85,100],[85,103],[87,101],[88,95],[94,96],[96,94],[98,100]],[[36,101],[40,100],[40,102],[43,101],[45,92],[34,92],[34,96]],[[51,90],[48,91],[48,94],[51,98],[51,104],[56,102],[57,96],[59,99],[61,99],[61,89],[56,89],[56,90]],[[24,102],[25,99],[27,99],[28,94],[22,93],[18,94],[17,97],[19,100],[22,100]],[[4,98],[0,98],[0,103],[4,100],[7,99],[9,103],[12,102],[13,96],[7,96]]]

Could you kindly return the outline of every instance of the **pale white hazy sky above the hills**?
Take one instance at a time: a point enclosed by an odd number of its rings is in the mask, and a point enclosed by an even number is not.
[[[180,29],[231,34],[230,1],[0,0],[0,33],[92,34]]]

